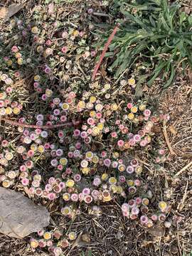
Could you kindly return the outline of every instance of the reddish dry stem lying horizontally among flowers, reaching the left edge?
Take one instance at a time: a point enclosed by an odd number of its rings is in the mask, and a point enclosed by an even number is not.
[[[58,128],[58,127],[72,127],[73,125],[78,125],[80,124],[80,121],[78,122],[68,122],[65,124],[55,124],[55,125],[33,125],[33,124],[23,124],[20,122],[16,122],[16,121],[12,121],[10,119],[1,117],[1,120],[3,120],[4,122],[11,124],[11,125],[15,125],[18,127],[26,127],[26,128],[33,128],[33,129],[54,129],[54,128]]]

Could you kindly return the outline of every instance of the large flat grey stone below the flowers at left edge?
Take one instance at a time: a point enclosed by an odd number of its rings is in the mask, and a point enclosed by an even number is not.
[[[49,221],[46,207],[36,206],[22,193],[0,187],[0,233],[24,238],[48,226]]]

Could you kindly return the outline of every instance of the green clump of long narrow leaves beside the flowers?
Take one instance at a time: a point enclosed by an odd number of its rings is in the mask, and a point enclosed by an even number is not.
[[[181,4],[167,0],[114,1],[119,31],[110,45],[108,56],[116,57],[110,66],[119,77],[124,70],[140,63],[151,86],[161,75],[164,88],[176,78],[176,70],[192,66],[192,16],[181,11]],[[105,40],[108,32],[105,33]]]

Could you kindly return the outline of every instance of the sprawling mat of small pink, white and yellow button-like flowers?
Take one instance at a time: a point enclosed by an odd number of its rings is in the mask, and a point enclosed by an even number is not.
[[[33,18],[18,14],[0,34],[0,185],[58,215],[57,223],[31,235],[29,250],[70,255],[80,240],[90,242],[71,228],[75,219],[100,218],[114,203],[129,225],[169,230],[179,223],[171,202],[146,178],[147,166],[163,172],[169,161],[158,134],[169,114],[134,97],[137,72],[91,81],[92,3],[80,13],[71,6],[63,11],[59,1],[32,7]]]

